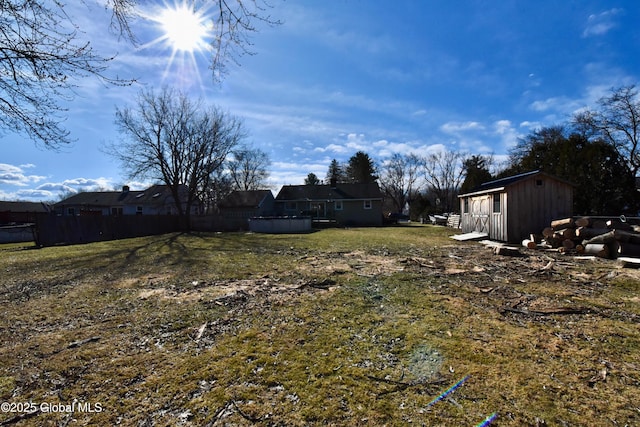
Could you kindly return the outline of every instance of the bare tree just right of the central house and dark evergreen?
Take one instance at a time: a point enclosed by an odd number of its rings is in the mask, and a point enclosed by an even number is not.
[[[418,190],[420,166],[420,158],[413,153],[394,153],[383,164],[380,187],[398,213],[402,212],[407,203],[411,204],[411,197]]]

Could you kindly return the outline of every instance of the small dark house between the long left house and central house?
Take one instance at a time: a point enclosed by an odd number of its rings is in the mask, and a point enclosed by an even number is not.
[[[248,220],[273,215],[275,199],[271,190],[233,191],[219,204],[223,218]]]

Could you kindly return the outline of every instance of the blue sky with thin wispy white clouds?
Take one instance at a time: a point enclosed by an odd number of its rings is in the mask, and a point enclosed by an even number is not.
[[[258,23],[253,55],[228,63],[218,83],[210,53],[175,50],[185,42],[174,31],[190,34],[193,23],[162,24],[182,1],[139,1],[137,45],[110,32],[92,0],[68,6],[81,36],[116,54],[106,74],[136,83],[74,82],[73,99],[61,100],[74,142],[58,150],[0,130],[0,200],[151,184],[129,180],[104,149],[126,138],[116,108],[135,107],[143,89],[173,87],[240,118],[245,142],[268,154],[277,192],[311,172],[323,179],[332,159],[357,151],[378,165],[441,150],[499,165],[519,138],[640,82],[636,0],[270,0],[282,24]],[[207,36],[187,43],[202,47]]]

